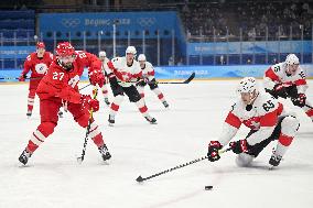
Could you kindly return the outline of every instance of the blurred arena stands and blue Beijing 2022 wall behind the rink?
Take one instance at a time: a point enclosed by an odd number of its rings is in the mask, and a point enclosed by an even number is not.
[[[0,69],[21,68],[36,41],[110,58],[134,45],[155,66],[271,65],[289,53],[313,63],[309,0],[2,0],[0,11]]]

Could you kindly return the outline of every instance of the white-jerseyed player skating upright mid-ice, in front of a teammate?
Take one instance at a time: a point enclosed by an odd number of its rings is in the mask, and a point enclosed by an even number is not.
[[[144,103],[143,98],[140,97],[134,84],[138,81],[142,72],[139,63],[134,59],[137,51],[134,46],[128,46],[126,50],[126,56],[112,58],[108,63],[108,77],[115,100],[110,107],[109,124],[115,123],[115,116],[119,110],[119,107],[123,100],[125,94],[128,96],[130,102],[134,102],[139,111],[150,123],[156,123],[156,120],[152,118]]]

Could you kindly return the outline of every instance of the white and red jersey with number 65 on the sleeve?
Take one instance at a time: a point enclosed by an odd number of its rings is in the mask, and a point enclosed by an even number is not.
[[[270,94],[260,92],[256,98],[252,109],[246,110],[246,105],[238,99],[228,112],[223,127],[222,134],[218,138],[219,143],[226,145],[237,133],[241,123],[257,132],[251,134],[247,142],[250,145],[260,143],[268,139],[277,123],[279,116],[283,116],[283,106]]]

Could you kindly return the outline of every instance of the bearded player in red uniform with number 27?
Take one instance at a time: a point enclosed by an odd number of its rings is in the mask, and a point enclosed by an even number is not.
[[[89,79],[93,85],[104,85],[101,63],[97,56],[87,52],[75,52],[68,42],[58,43],[56,47],[56,59],[48,67],[46,76],[37,88],[40,98],[41,124],[32,133],[29,144],[19,157],[24,165],[37,147],[53,133],[57,125],[57,112],[63,102],[67,103],[67,110],[73,114],[74,120],[83,128],[87,128],[89,110],[97,111],[99,101],[90,96],[78,92],[79,77],[84,67],[89,67]],[[111,157],[104,143],[100,128],[91,120],[89,136],[97,145],[102,160]]]

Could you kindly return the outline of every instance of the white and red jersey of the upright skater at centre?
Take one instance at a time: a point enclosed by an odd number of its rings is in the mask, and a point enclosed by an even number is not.
[[[138,78],[142,76],[140,64],[133,59],[132,65],[127,65],[126,57],[115,57],[108,63],[107,74],[115,74],[118,84],[122,87],[130,87]],[[123,76],[131,74],[131,80],[125,81]]]

